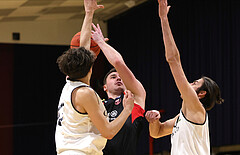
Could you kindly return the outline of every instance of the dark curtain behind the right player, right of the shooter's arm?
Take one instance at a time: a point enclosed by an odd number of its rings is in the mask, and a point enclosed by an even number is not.
[[[240,144],[240,1],[169,0],[169,21],[189,82],[214,79],[225,99],[209,112],[211,146]],[[108,21],[109,43],[147,91],[146,110],[179,113],[181,98],[165,60],[157,0]],[[146,123],[146,126],[148,124]],[[139,154],[148,153],[148,128]],[[154,152],[170,149],[170,136],[154,140]]]

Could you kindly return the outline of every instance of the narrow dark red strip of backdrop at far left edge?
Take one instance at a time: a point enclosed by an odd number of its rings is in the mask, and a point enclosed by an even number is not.
[[[13,48],[0,45],[0,154],[13,150]]]

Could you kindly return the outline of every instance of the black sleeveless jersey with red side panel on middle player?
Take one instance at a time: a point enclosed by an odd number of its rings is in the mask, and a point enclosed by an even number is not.
[[[108,99],[104,105],[107,109],[109,121],[116,119],[123,110],[123,94],[116,99]],[[136,155],[137,141],[143,128],[144,110],[134,104],[131,115],[121,130],[107,141],[103,149],[104,155]]]

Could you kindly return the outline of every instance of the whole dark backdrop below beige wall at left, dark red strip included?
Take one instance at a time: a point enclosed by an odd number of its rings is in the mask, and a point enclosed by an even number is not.
[[[65,75],[56,64],[68,46],[0,44],[0,154],[53,155],[57,106]],[[103,55],[95,62],[91,86],[103,94]]]

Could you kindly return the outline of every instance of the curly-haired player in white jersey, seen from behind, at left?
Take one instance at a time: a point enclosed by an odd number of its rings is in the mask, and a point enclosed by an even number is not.
[[[68,76],[58,106],[55,133],[57,154],[100,155],[121,129],[134,106],[133,94],[125,91],[124,109],[114,121],[108,121],[106,109],[98,94],[89,86],[95,55],[90,51],[91,23],[94,11],[103,6],[96,0],[84,0],[85,18],[80,47],[69,49],[58,59],[61,72]]]

